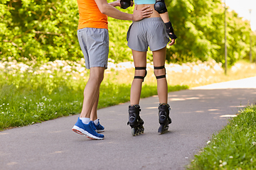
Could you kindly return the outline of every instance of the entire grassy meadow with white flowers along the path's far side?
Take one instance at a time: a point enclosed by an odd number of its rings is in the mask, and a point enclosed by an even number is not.
[[[232,68],[230,76],[225,76],[220,64],[214,61],[166,64],[169,91],[188,89],[188,86],[200,86],[213,81],[256,76],[255,70],[252,72],[255,64],[243,62],[241,65],[242,69],[234,69],[239,76],[231,75]],[[134,77],[134,68],[131,66],[130,62],[110,62],[100,87],[98,108],[129,101]],[[142,86],[142,98],[157,94],[152,68],[151,64],[147,66],[148,75]],[[89,77],[84,60],[56,60],[42,64],[28,60],[16,62],[9,57],[0,61],[0,70],[0,131],[80,113],[83,90]]]

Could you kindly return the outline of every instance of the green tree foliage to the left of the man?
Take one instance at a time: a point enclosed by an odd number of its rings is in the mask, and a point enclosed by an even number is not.
[[[75,0],[6,0],[1,9],[1,57],[46,61],[82,56]]]

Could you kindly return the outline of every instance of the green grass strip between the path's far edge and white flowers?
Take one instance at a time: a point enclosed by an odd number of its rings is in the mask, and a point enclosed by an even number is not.
[[[7,78],[7,79],[4,79]],[[45,74],[18,74],[0,77],[0,130],[74,115],[82,110],[83,79],[68,81],[61,77],[48,78]],[[188,86],[169,86],[169,91],[188,89]],[[98,108],[129,101],[130,84],[100,86]],[[156,86],[142,87],[142,98],[157,94]]]

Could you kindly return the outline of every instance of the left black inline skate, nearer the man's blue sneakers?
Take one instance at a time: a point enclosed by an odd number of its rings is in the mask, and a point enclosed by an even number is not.
[[[139,116],[140,107],[139,105],[129,106],[129,121],[127,125],[130,125],[132,128],[132,135],[139,135],[144,133],[144,121]]]

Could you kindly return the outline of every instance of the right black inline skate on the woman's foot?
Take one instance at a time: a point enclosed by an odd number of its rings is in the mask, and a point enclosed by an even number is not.
[[[163,134],[168,131],[169,124],[171,123],[171,118],[169,116],[169,113],[171,111],[171,108],[169,104],[159,104],[159,123],[160,127],[158,132],[160,134]]]

